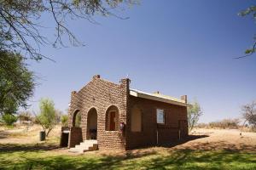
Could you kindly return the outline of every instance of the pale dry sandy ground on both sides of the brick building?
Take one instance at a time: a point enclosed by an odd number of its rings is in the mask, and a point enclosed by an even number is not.
[[[39,126],[21,126],[13,129],[0,127],[0,150],[4,144],[40,144],[39,131],[42,130]],[[55,127],[49,134],[49,141],[52,144],[59,144],[61,127]],[[158,150],[237,150],[237,151],[256,151],[256,133],[241,132],[237,129],[194,129],[189,135],[189,139],[177,141],[166,147],[151,147],[140,150],[131,150],[131,154],[142,153],[147,151]],[[66,148],[51,150],[59,154],[72,155]],[[122,151],[112,150],[104,151],[97,150],[87,152],[85,154],[100,154],[100,155],[118,155],[124,154]]]

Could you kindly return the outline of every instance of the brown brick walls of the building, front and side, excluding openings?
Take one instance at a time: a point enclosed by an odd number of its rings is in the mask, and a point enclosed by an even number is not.
[[[122,79],[116,84],[103,80],[99,75],[93,77],[84,88],[71,94],[69,127],[73,127],[73,115],[79,111],[82,116],[80,139],[87,139],[88,112],[95,109],[99,150],[130,150],[172,143],[179,136],[185,138],[188,135],[186,107],[131,96],[129,85],[129,79]],[[186,100],[187,96],[183,99]],[[142,132],[131,132],[131,109],[135,105],[142,111]],[[106,129],[106,114],[111,106],[118,109],[119,123],[126,125],[125,133]],[[156,109],[165,111],[165,124],[156,123]],[[70,143],[77,143],[77,140],[73,142],[73,134],[70,135]]]

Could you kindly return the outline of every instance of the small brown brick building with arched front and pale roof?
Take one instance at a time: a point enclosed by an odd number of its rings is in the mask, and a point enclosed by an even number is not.
[[[119,84],[96,75],[73,91],[68,112],[68,146],[96,139],[99,150],[130,150],[172,143],[188,135],[187,96],[172,98],[130,88],[129,79]],[[80,115],[80,125],[76,120]]]

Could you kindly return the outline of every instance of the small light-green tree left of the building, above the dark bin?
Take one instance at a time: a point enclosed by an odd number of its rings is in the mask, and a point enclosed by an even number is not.
[[[36,122],[38,122],[44,129],[46,137],[56,125],[56,111],[55,104],[50,99],[40,99],[39,102],[40,113],[36,115]]]

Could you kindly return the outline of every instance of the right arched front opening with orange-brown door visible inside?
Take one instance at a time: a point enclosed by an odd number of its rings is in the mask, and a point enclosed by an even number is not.
[[[119,110],[116,106],[108,107],[106,112],[106,130],[118,131],[119,130]]]

